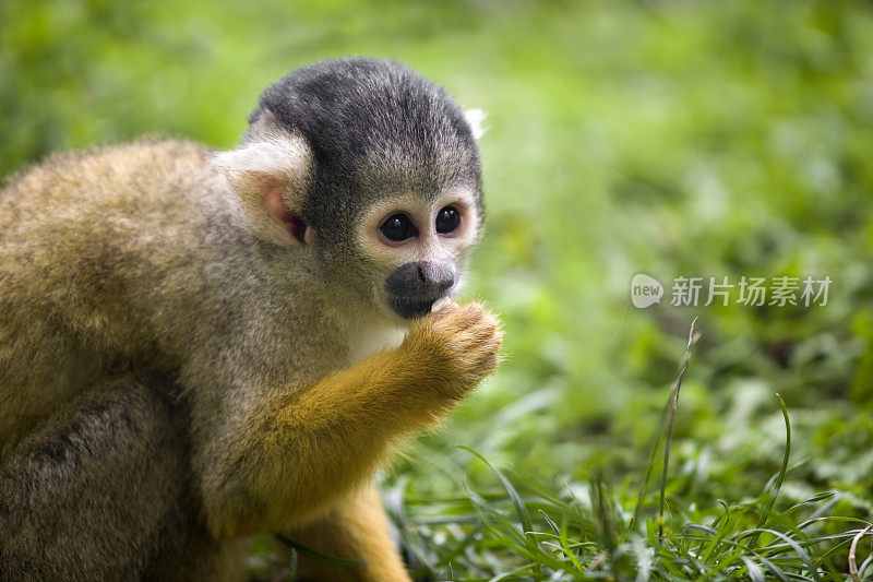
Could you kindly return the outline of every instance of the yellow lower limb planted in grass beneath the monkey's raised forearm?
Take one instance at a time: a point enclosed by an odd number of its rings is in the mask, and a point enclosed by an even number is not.
[[[336,566],[298,555],[298,580],[403,582],[409,574],[388,534],[379,492],[372,486],[355,491],[327,514],[288,536],[303,546],[338,558],[367,560],[367,566]]]

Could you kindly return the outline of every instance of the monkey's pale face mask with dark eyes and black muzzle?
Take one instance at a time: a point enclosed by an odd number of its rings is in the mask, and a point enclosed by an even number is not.
[[[375,300],[411,319],[455,293],[480,218],[474,193],[463,187],[373,204],[360,222],[358,244],[374,271],[368,278]]]

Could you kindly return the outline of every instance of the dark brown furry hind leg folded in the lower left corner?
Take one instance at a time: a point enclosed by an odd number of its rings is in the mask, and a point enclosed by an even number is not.
[[[163,381],[83,394],[0,460],[0,579],[166,578],[169,547],[205,539],[182,506],[188,450]]]

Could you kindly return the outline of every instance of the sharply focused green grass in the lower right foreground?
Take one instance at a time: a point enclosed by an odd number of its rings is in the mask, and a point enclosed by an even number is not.
[[[873,580],[873,557],[854,563],[859,539],[873,525],[858,518],[832,515],[838,494],[824,491],[775,511],[789,473],[791,424],[785,420],[781,465],[754,498],[718,500],[697,507],[693,499],[668,496],[681,487],[669,471],[672,428],[682,378],[699,338],[694,324],[679,372],[653,436],[649,463],[641,475],[636,507],[615,494],[605,473],[582,486],[545,486],[519,478],[522,486],[468,447],[486,464],[501,491],[483,494],[467,485],[464,496],[404,499],[394,496],[392,516],[403,547],[429,580]],[[663,461],[660,483],[648,487],[658,443]],[[396,494],[397,491],[395,491]],[[390,497],[392,498],[392,497]],[[654,508],[657,506],[657,511]],[[669,508],[666,514],[665,510]],[[645,519],[641,516],[649,513]],[[873,555],[871,555],[873,556]]]

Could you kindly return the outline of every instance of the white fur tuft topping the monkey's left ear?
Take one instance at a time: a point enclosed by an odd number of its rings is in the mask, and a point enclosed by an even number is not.
[[[230,175],[270,174],[295,178],[309,165],[310,151],[306,141],[296,135],[261,138],[243,143],[229,152],[217,152],[212,163]]]

